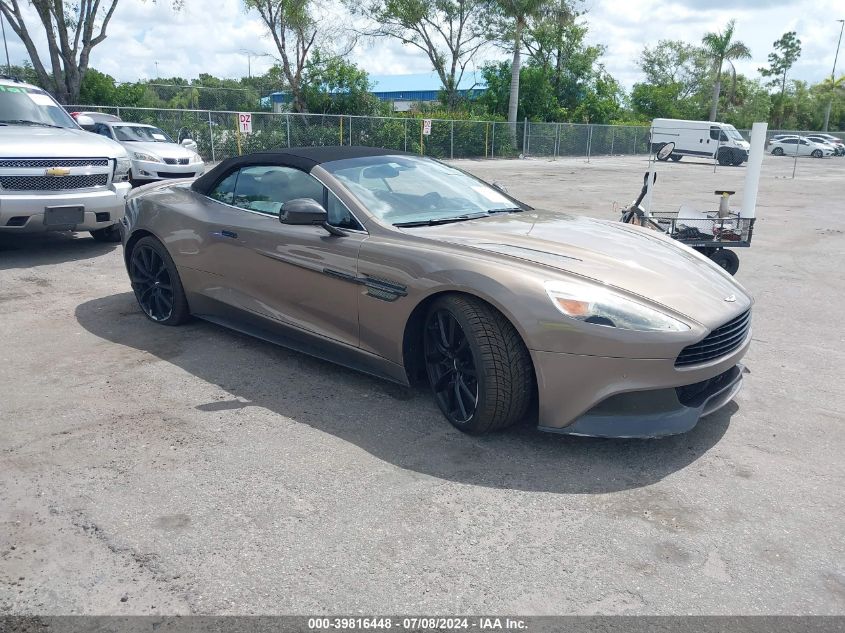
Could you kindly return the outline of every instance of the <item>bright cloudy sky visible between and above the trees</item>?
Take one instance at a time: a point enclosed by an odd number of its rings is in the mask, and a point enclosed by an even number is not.
[[[830,76],[840,28],[836,20],[845,18],[845,0],[582,0],[581,6],[589,42],[607,47],[602,62],[626,89],[642,79],[637,59],[644,45],[660,39],[698,43],[705,32],[723,28],[731,18],[737,23],[735,37],[753,54],[753,59],[737,63],[739,72],[757,76],[772,43],[794,30],[803,52],[791,77],[816,82]],[[29,11],[29,24],[37,31],[37,18]],[[193,78],[202,72],[240,77],[250,66],[253,74],[261,74],[274,63],[261,19],[245,11],[242,0],[186,0],[181,11],[167,0],[121,0],[107,35],[94,48],[91,66],[118,81]],[[26,51],[8,24],[6,36],[11,62],[20,63]],[[474,67],[505,56],[491,47],[477,56]],[[390,39],[359,41],[348,57],[376,80],[431,72],[421,51]],[[837,75],[845,72],[845,50],[837,68]]]

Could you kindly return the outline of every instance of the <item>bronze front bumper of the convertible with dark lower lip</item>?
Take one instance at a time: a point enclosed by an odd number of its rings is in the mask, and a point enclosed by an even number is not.
[[[675,367],[673,359],[629,359],[532,351],[539,428],[599,437],[684,433],[721,408],[742,384],[739,361],[750,333],[731,354]]]

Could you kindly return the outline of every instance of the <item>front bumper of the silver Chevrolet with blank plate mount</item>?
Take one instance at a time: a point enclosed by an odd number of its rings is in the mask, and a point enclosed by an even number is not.
[[[128,182],[112,183],[96,191],[63,191],[16,194],[0,192],[0,232],[42,233],[45,231],[95,231],[123,219]],[[81,206],[85,208],[81,223],[47,225],[46,207]]]

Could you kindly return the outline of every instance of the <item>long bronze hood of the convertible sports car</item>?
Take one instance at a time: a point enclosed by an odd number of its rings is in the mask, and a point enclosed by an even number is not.
[[[523,212],[410,230],[610,285],[706,327],[724,323],[752,303],[745,289],[707,258],[662,233],[621,222]]]

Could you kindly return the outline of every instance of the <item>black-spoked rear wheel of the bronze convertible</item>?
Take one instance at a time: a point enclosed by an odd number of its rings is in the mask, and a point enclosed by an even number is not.
[[[181,325],[190,318],[182,281],[164,245],[142,237],[129,254],[129,279],[144,315],[161,325]]]

